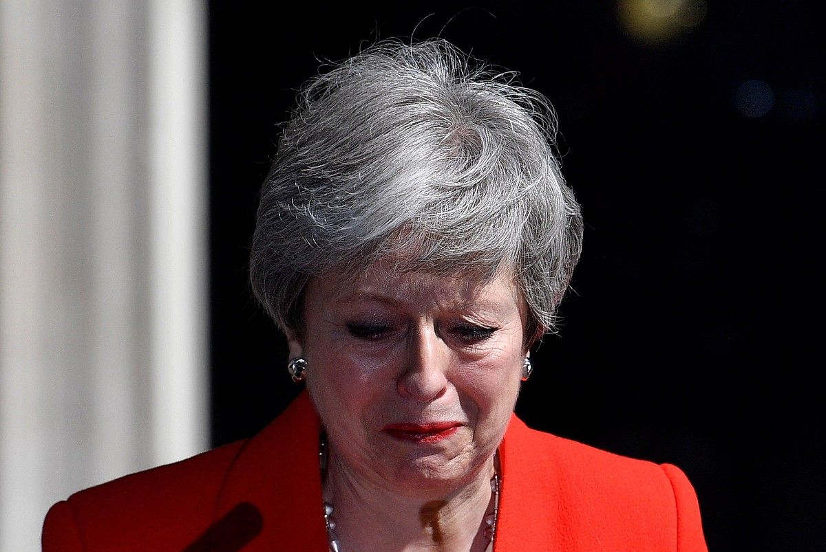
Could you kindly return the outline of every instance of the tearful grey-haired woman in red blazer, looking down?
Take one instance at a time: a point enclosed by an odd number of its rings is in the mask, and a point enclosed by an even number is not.
[[[582,219],[552,111],[509,78],[390,41],[306,87],[250,262],[306,392],[59,502],[45,550],[705,550],[679,469],[513,414]]]

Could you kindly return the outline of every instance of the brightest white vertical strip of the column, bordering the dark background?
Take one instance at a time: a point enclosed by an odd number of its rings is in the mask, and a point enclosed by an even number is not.
[[[207,442],[206,9],[150,2],[154,458]]]

